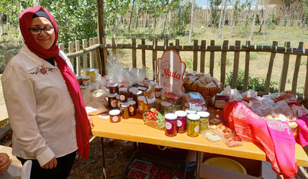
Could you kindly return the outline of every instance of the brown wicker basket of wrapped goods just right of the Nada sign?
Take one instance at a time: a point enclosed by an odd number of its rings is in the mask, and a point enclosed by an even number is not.
[[[218,87],[197,87],[196,85],[184,83],[185,92],[198,92],[204,99],[213,98],[222,87],[220,82]]]

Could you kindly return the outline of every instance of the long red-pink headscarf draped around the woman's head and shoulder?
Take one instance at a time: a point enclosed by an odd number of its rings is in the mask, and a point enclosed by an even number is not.
[[[50,49],[43,49],[34,39],[31,32],[29,31],[29,26],[32,21],[32,16],[34,13],[38,12],[38,10],[42,9],[51,19],[51,23],[53,27],[55,27],[55,42],[53,42],[53,46]],[[86,113],[86,108],[84,106],[84,100],[81,96],[81,91],[79,87],[79,83],[75,77],[75,73],[69,68],[66,64],[66,61],[62,59],[59,55],[60,49],[57,47],[57,23],[55,22],[55,18],[42,7],[33,7],[24,10],[19,16],[19,26],[21,29],[21,34],[23,34],[23,38],[25,40],[25,44],[29,48],[31,52],[38,55],[43,59],[48,59],[53,57],[55,62],[57,63],[57,67],[60,69],[64,80],[66,81],[66,86],[68,91],[70,92],[70,97],[73,100],[75,106],[75,120],[76,120],[76,135],[77,135],[77,146],[78,146],[78,154],[82,156],[84,159],[88,159],[89,154],[89,122],[88,115]]]

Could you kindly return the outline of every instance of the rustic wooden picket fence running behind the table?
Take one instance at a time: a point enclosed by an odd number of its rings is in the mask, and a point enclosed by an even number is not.
[[[157,73],[157,52],[173,50],[181,53],[181,51],[190,51],[192,52],[193,59],[193,70],[197,72],[205,72],[205,55],[209,53],[209,73],[214,74],[214,60],[215,53],[219,52],[220,55],[220,82],[222,82],[223,87],[226,82],[226,66],[227,66],[227,53],[234,53],[233,57],[233,78],[231,83],[231,88],[236,88],[238,83],[238,73],[239,73],[239,61],[240,53],[244,53],[245,64],[244,64],[244,83],[243,91],[248,90],[248,76],[249,76],[249,67],[251,62],[251,52],[261,52],[268,53],[270,55],[268,71],[266,75],[266,87],[264,92],[259,92],[258,94],[268,94],[270,92],[270,83],[271,77],[273,75],[273,64],[274,59],[277,54],[283,55],[283,64],[280,74],[279,82],[279,92],[285,92],[285,85],[287,82],[287,72],[290,65],[290,56],[296,57],[296,63],[294,66],[294,72],[292,77],[292,94],[303,94],[297,96],[298,100],[303,100],[308,102],[308,49],[303,48],[303,42],[299,42],[298,48],[291,48],[290,42],[285,42],[285,46],[278,46],[278,42],[272,42],[272,46],[268,45],[251,45],[250,41],[246,41],[245,44],[241,44],[240,41],[235,41],[234,45],[230,45],[228,40],[224,40],[222,45],[216,45],[215,40],[210,40],[207,45],[206,40],[194,40],[193,45],[180,45],[179,40],[175,40],[175,44],[169,43],[168,40],[164,40],[164,45],[157,45],[157,39],[154,39],[152,44],[145,44],[145,39],[141,39],[141,44],[136,44],[136,39],[131,39],[131,44],[116,44],[116,40],[112,38],[110,44],[106,43],[106,39],[103,38],[103,44],[98,44],[97,38],[90,39],[90,46],[87,46],[87,40],[83,40],[83,49],[79,49],[79,41],[74,43],[70,42],[68,44],[68,53],[66,55],[70,58],[72,64],[76,67],[76,74],[81,75],[81,56],[83,57],[83,67],[84,68],[98,68],[100,72],[105,72],[105,69],[102,69],[102,63],[107,61],[107,54],[109,54],[108,49],[112,51],[112,54],[116,55],[116,49],[128,49],[131,50],[131,67],[136,68],[137,63],[142,62],[142,66],[146,67],[146,51],[151,52],[151,68],[153,69],[153,74]],[[60,49],[65,51],[64,44],[59,44]],[[99,49],[103,49],[104,59],[99,60]],[[75,49],[75,52],[74,52]],[[141,51],[141,61],[137,61],[137,51]],[[110,52],[111,53],[111,52]],[[89,58],[88,55],[89,54]],[[198,55],[199,54],[199,55]],[[298,86],[298,73],[300,69],[300,60],[302,56],[307,60],[305,70],[305,87],[303,91],[296,91]],[[198,59],[198,57],[200,57]],[[304,59],[304,60],[305,60]],[[200,64],[198,64],[200,61]],[[88,65],[90,64],[90,66]],[[198,66],[200,69],[197,69]],[[104,74],[103,74],[104,75]],[[274,74],[277,75],[277,74]],[[153,80],[157,80],[156,75],[153,75]],[[222,88],[223,90],[223,88]]]

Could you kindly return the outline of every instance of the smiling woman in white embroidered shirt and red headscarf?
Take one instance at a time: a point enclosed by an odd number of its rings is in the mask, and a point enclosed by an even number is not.
[[[1,77],[12,154],[32,160],[31,178],[67,178],[76,151],[88,158],[88,118],[73,66],[56,46],[57,23],[42,7],[19,17],[25,40]]]

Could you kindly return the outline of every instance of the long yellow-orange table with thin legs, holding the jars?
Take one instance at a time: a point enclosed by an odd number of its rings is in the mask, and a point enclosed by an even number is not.
[[[209,107],[207,110],[210,116],[222,116],[222,110]],[[186,133],[179,133],[175,137],[167,137],[164,131],[157,130],[150,126],[146,126],[142,120],[142,115],[137,114],[133,118],[121,120],[118,123],[111,123],[109,118],[104,119],[99,115],[92,115],[94,128],[92,134],[101,137],[102,154],[103,154],[103,172],[105,174],[105,155],[103,150],[103,137],[135,141],[142,143],[150,143],[159,146],[168,146],[173,148],[181,148],[185,150],[194,150],[197,152],[196,178],[199,178],[201,165],[201,152],[214,154],[223,154],[227,156],[241,157],[245,159],[254,159],[258,161],[266,161],[266,154],[260,150],[255,144],[244,141],[243,146],[229,148],[223,141],[211,143],[201,135],[198,137],[189,137]],[[302,146],[296,143],[295,157],[298,166],[308,167],[308,156]]]

